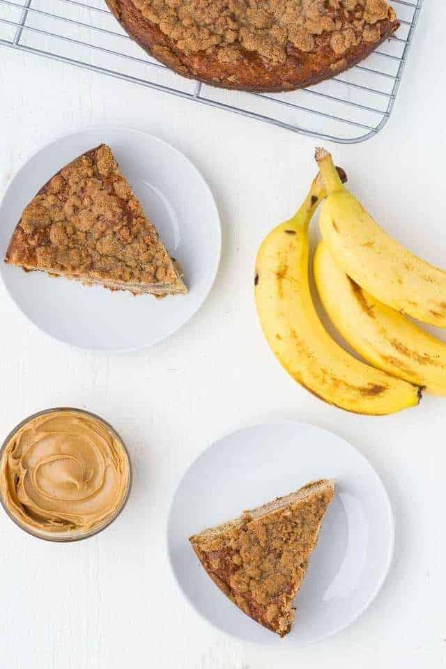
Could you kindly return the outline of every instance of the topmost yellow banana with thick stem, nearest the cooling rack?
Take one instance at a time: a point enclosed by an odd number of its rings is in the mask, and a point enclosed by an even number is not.
[[[327,187],[319,225],[346,274],[380,302],[424,323],[446,328],[446,272],[388,235],[346,190],[330,153],[316,150]]]

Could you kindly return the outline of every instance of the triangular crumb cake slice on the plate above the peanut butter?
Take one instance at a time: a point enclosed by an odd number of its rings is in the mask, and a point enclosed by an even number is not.
[[[187,293],[106,144],[77,157],[40,189],[15,228],[5,260],[135,295]]]

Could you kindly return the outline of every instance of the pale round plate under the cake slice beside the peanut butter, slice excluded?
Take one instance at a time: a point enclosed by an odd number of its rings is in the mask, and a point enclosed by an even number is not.
[[[337,479],[337,493],[296,599],[295,623],[281,639],[220,592],[187,537],[320,478]],[[206,449],[181,480],[167,526],[171,566],[192,606],[232,636],[280,647],[314,643],[353,622],[383,585],[393,544],[390,501],[364,456],[298,422],[249,427]]]

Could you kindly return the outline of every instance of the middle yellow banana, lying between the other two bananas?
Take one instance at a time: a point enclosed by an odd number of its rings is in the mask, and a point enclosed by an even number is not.
[[[328,316],[357,353],[375,367],[446,395],[446,344],[355,284],[321,242],[314,279]]]

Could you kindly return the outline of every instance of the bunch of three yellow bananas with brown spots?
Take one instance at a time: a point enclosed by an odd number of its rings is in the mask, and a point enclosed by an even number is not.
[[[256,307],[270,348],[300,385],[355,413],[415,406],[424,387],[446,395],[446,344],[404,315],[446,327],[446,272],[374,222],[344,187],[330,153],[318,149],[316,161],[320,171],[302,206],[257,254]],[[335,327],[365,362],[330,337],[313,304],[309,224],[320,203],[316,287]]]

